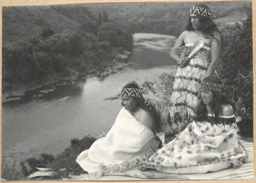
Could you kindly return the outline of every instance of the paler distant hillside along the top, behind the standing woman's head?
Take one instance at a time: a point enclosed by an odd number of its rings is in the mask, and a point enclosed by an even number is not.
[[[93,15],[107,11],[109,18],[126,22],[134,32],[160,33],[179,36],[185,30],[189,8],[202,2],[130,3],[88,5]],[[213,20],[232,12],[243,12],[246,1],[205,2]]]

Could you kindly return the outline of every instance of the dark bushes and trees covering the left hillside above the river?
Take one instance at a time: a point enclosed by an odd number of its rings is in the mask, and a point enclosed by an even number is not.
[[[5,45],[8,37],[4,35],[2,49],[4,91],[17,90],[23,86],[34,87],[49,80],[56,82],[63,78],[68,79],[73,73],[87,74],[99,65],[113,60],[116,57],[113,49],[123,47],[132,50],[133,38],[129,27],[119,22],[109,22],[106,11],[103,11],[102,21],[101,13],[97,20],[84,6],[51,6],[48,9],[38,10],[54,16],[59,13],[59,16],[65,16],[63,19],[77,22],[76,25],[80,26],[71,29],[67,28],[69,25],[61,22],[63,27],[57,31],[54,24],[57,18],[53,17],[52,25],[46,24],[43,20],[37,22],[37,26],[42,27],[41,34],[23,37],[18,42],[12,42],[11,46]],[[17,8],[9,8],[5,12],[10,15],[15,14],[16,11]],[[19,11],[24,10],[21,8]],[[10,18],[5,16],[5,19]],[[3,31],[10,32],[11,28],[8,27],[10,24],[7,24],[6,20]],[[19,22],[13,22],[11,25],[19,26]],[[34,31],[24,24],[20,32],[26,30],[28,33]]]

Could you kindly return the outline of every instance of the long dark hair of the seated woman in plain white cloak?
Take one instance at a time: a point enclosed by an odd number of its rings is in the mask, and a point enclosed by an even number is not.
[[[135,83],[128,83],[123,88],[140,89],[139,86]],[[150,103],[151,109],[149,109],[148,107],[145,107],[145,105],[144,105],[145,99],[143,97],[133,97],[133,98],[135,98],[137,105],[140,106],[145,111],[147,111],[147,113],[153,118],[153,121],[156,125],[156,132],[161,132],[161,116],[160,116],[159,112],[157,111],[157,109],[155,108],[155,106],[152,103]],[[123,102],[122,102],[122,106],[124,106]]]

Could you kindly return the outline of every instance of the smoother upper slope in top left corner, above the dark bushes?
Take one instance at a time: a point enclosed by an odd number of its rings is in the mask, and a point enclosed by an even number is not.
[[[76,16],[71,14],[74,11]],[[56,33],[64,29],[78,30],[80,20],[92,19],[85,6],[3,7],[3,45],[10,46],[27,37],[38,36],[45,28],[51,28]]]

